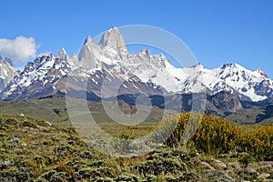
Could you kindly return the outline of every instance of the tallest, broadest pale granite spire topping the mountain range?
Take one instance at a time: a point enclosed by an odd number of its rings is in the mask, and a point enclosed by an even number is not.
[[[117,50],[119,54],[127,54],[124,38],[114,26],[109,29],[101,38],[99,45],[108,46]]]

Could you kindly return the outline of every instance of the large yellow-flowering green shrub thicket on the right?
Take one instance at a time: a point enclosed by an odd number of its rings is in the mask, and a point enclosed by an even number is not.
[[[174,128],[174,132],[165,142],[169,147],[185,146],[187,139],[191,138],[190,143],[207,154],[228,153],[239,147],[253,157],[273,159],[272,125],[254,126],[244,130],[222,117],[183,112],[168,117],[158,124],[158,128]]]

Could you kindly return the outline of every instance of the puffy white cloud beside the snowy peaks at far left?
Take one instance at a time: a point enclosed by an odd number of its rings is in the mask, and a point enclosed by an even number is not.
[[[0,38],[0,55],[10,58],[15,64],[34,58],[37,47],[33,37],[17,36],[14,40]]]

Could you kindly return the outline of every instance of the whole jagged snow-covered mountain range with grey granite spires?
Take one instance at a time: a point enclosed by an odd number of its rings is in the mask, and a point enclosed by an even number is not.
[[[152,55],[149,50],[128,53],[123,36],[113,27],[102,36],[99,44],[88,36],[78,56],[69,57],[62,48],[57,56],[36,57],[18,75],[10,60],[0,61],[0,96],[5,100],[23,100],[66,95],[69,75],[75,80],[70,83],[73,91],[85,91],[80,85],[86,81],[87,97],[97,100],[102,97],[101,89],[106,80],[113,83],[108,85],[109,97],[116,94],[111,93],[115,83],[121,83],[118,96],[187,95],[206,91],[208,96],[227,92],[240,101],[258,102],[271,99],[273,92],[272,80],[259,68],[250,71],[238,64],[215,69],[199,64],[175,67],[166,56]]]

